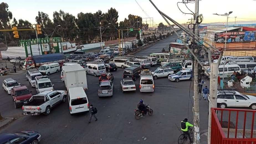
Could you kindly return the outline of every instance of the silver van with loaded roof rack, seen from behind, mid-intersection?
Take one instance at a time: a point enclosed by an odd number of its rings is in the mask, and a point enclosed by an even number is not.
[[[150,70],[143,70],[140,73],[140,92],[154,92],[155,84]]]

